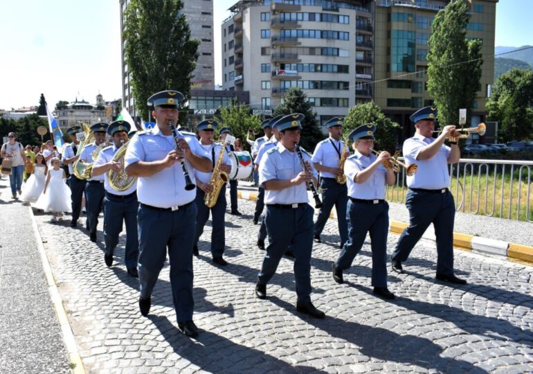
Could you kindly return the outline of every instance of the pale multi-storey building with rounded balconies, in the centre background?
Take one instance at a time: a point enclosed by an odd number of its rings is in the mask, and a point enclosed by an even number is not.
[[[249,91],[252,109],[267,114],[300,87],[324,123],[372,99],[361,84],[372,80],[371,0],[241,0],[230,10],[223,89]]]

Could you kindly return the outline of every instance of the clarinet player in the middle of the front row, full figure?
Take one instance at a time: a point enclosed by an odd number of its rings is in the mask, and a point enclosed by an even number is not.
[[[311,157],[302,152],[302,160],[296,152],[295,143],[300,141],[300,121],[303,114],[289,114],[277,123],[280,142],[271,148],[262,159],[259,174],[264,187],[266,204],[266,230],[269,247],[263,259],[255,296],[266,299],[266,283],[275,274],[281,257],[291,245],[296,256],[296,310],[311,317],[324,318],[324,312],[311,303],[311,249],[313,247],[313,213],[308,204],[307,185],[314,180],[316,171],[311,168]]]

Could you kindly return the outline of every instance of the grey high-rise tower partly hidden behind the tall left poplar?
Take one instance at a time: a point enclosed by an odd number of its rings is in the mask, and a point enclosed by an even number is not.
[[[186,15],[190,35],[198,39],[199,57],[196,69],[193,71],[191,80],[192,89],[214,89],[215,87],[215,56],[213,53],[213,0],[182,0],[183,12]],[[128,71],[125,62],[124,48],[127,40],[123,36],[124,31],[124,12],[129,4],[129,0],[119,0],[120,2],[120,35],[122,40],[122,80],[123,80],[123,107],[127,108],[129,114],[138,116],[135,108],[135,100],[132,94],[132,87],[129,82],[132,78],[131,72]]]

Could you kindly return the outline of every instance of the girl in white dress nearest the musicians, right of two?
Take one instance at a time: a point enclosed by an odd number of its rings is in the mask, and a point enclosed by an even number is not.
[[[71,212],[71,190],[65,184],[66,175],[60,168],[60,159],[53,157],[51,159],[52,168],[48,170],[44,191],[37,199],[35,208],[42,209],[45,212],[52,212],[52,222],[61,220],[62,212]]]

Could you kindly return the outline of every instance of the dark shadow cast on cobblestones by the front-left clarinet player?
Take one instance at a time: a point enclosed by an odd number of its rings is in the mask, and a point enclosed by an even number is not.
[[[292,366],[255,348],[199,329],[190,339],[166,317],[148,316],[177,355],[209,373],[325,373],[310,366]]]

